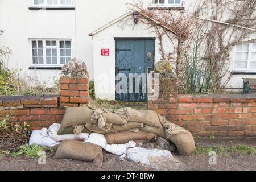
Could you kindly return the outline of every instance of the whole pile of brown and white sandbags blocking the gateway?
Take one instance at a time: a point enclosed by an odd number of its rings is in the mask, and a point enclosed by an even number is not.
[[[166,121],[155,111],[131,108],[108,110],[89,105],[66,107],[61,125],[55,123],[48,130],[33,131],[30,140],[30,144],[46,146],[62,142],[56,159],[84,160],[98,167],[102,165],[102,149],[121,155],[121,159],[127,156],[134,161],[139,161],[137,158],[143,152],[143,160],[147,161],[151,152],[171,156],[170,151],[177,149],[180,155],[187,156],[195,151],[192,134]],[[152,140],[157,143],[150,143]],[[145,150],[131,149],[140,146]]]

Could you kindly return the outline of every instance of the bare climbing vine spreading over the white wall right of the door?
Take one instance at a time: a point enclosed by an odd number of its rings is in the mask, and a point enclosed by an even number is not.
[[[250,39],[256,31],[254,0],[199,0],[185,10],[151,9],[142,1],[127,5],[158,37],[161,59],[175,66],[180,93],[222,92],[232,76],[230,50],[255,40]],[[165,38],[174,47],[172,52],[164,46]],[[198,84],[207,88],[197,90]]]

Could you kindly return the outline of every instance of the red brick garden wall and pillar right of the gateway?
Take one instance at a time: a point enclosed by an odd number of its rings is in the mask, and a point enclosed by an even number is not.
[[[194,137],[256,137],[256,94],[177,96],[176,81],[160,81],[159,98],[149,100],[148,109]]]

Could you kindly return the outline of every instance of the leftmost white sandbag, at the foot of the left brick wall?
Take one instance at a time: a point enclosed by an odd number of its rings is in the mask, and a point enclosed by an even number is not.
[[[46,146],[46,147],[53,147],[60,142],[56,142],[55,140],[51,139],[48,135],[46,137],[42,137],[41,130],[34,130],[30,136],[29,145],[38,144],[38,146]]]

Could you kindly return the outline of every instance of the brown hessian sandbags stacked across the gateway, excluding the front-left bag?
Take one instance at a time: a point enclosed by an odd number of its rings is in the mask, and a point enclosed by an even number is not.
[[[182,156],[195,151],[192,134],[166,121],[153,110],[123,108],[108,110],[83,107],[67,107],[58,135],[98,133],[105,134],[108,144],[125,144],[129,141],[150,142],[157,136],[169,140]]]

